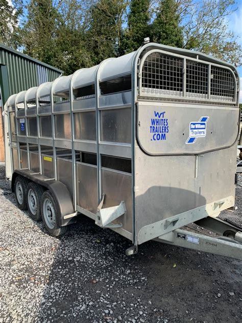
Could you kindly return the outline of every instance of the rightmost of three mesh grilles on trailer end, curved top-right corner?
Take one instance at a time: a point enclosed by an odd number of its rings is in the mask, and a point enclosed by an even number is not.
[[[211,96],[219,95],[221,100],[233,100],[234,80],[229,70],[221,67],[211,66]],[[230,98],[230,99],[229,99]]]

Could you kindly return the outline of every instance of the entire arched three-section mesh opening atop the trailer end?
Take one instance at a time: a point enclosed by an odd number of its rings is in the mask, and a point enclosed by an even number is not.
[[[143,62],[141,81],[140,95],[236,102],[232,71],[211,63],[153,52]]]

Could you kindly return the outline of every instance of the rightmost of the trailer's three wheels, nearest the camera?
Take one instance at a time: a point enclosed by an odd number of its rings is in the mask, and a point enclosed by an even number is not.
[[[66,232],[66,227],[59,227],[57,225],[59,211],[56,200],[49,190],[45,191],[42,195],[41,213],[44,226],[51,236],[58,237]]]

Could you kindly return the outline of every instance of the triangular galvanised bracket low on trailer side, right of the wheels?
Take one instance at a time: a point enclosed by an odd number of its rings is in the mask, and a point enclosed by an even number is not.
[[[121,228],[123,226],[122,223],[113,224],[111,222],[116,220],[119,216],[126,214],[125,201],[120,202],[119,205],[102,209],[104,197],[105,195],[103,194],[102,201],[96,212],[95,224],[101,228]]]

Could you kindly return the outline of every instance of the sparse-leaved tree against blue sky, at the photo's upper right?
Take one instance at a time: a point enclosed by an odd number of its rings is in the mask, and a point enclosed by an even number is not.
[[[242,48],[228,28],[228,17],[237,10],[234,0],[179,0],[184,44],[231,63],[242,63]]]

